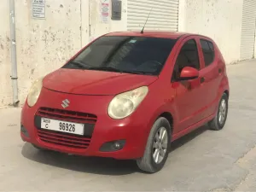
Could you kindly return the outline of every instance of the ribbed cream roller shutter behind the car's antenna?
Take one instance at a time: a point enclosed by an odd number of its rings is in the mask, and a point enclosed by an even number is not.
[[[142,30],[148,13],[145,30],[177,31],[179,0],[127,0],[128,30]]]

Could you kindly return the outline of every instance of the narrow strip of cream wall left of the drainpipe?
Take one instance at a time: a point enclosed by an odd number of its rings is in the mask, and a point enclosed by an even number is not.
[[[0,3],[0,106],[12,101],[10,79],[9,0]]]

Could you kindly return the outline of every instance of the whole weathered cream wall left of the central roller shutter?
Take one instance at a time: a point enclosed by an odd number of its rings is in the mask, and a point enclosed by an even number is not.
[[[126,30],[126,0],[123,0],[122,20],[111,20],[109,6],[108,24],[101,20],[101,1],[48,0],[45,19],[35,20],[32,0],[15,0],[20,104],[26,100],[33,80],[61,67],[91,39],[106,32]],[[0,107],[3,107],[12,103],[9,0],[1,0],[0,23]]]

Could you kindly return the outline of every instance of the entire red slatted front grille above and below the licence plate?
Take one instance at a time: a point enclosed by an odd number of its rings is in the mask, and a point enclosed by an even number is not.
[[[84,124],[84,136],[78,136],[61,131],[49,131],[41,129],[41,118],[58,119],[74,123]],[[38,127],[38,138],[45,143],[52,143],[68,148],[88,148],[90,138],[96,124],[97,117],[94,114],[67,111],[55,108],[39,108],[35,116],[35,125]]]

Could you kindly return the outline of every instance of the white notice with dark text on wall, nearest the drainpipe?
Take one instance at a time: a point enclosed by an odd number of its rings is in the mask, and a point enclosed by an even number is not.
[[[45,19],[45,0],[32,0],[32,18]]]

